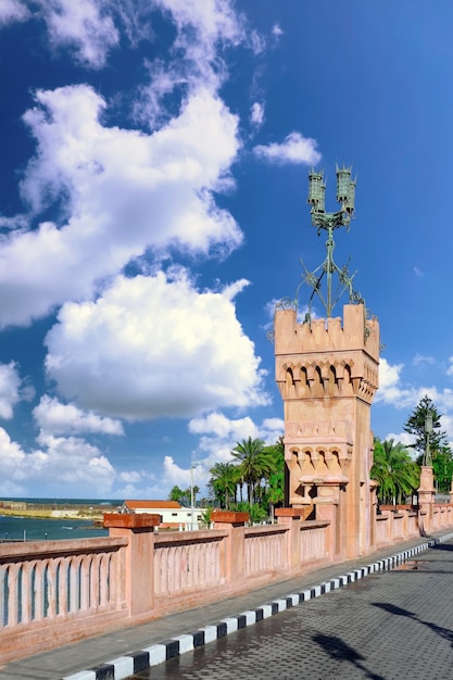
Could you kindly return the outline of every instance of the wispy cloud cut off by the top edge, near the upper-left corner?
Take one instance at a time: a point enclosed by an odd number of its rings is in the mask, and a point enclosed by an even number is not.
[[[119,35],[114,26],[109,3],[93,0],[40,0],[41,11],[54,48],[68,47],[80,63],[100,68],[105,64]]]

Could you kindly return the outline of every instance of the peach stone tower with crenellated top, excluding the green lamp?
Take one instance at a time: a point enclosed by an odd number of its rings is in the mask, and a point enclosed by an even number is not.
[[[289,504],[310,519],[329,519],[334,554],[355,557],[374,542],[370,405],[378,388],[379,325],[363,303],[343,319],[299,324],[277,310],[276,381],[285,407]]]

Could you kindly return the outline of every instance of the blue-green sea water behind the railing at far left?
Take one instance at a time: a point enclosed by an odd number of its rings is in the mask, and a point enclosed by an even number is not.
[[[54,505],[109,505],[119,506],[123,501],[99,499],[0,499],[0,501],[25,501],[26,503]],[[34,519],[32,517],[10,517],[0,515],[0,542],[4,541],[59,541],[66,539],[89,539],[109,536],[109,530],[85,519]]]

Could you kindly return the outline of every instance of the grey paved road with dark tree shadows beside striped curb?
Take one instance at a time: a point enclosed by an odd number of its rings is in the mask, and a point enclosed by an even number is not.
[[[453,542],[134,678],[453,680]]]

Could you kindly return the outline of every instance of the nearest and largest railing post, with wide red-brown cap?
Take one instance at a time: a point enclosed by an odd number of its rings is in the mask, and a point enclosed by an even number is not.
[[[106,513],[104,527],[111,537],[126,537],[124,585],[129,616],[154,608],[154,527],[160,515]]]

